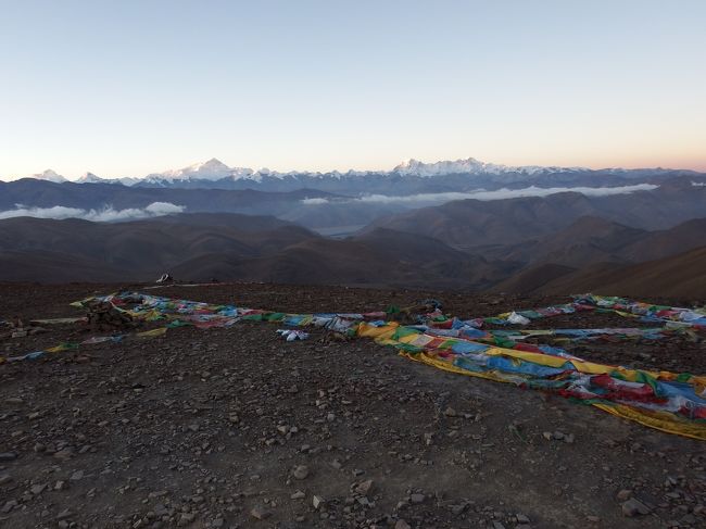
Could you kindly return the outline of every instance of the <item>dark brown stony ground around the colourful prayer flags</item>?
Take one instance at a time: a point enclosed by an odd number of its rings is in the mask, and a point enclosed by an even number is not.
[[[116,288],[0,285],[0,319],[71,316],[68,302]],[[263,285],[154,292],[292,312],[434,297],[464,317],[565,301]],[[579,318],[534,325],[630,325]],[[706,527],[703,442],[371,341],[313,331],[283,342],[276,328],[179,328],[0,365],[0,527]],[[0,353],[89,336],[51,327],[0,339]],[[706,373],[702,342],[579,348]]]

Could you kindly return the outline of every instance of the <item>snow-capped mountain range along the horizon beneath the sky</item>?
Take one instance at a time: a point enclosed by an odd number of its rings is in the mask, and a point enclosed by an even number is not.
[[[703,173],[689,169],[589,169],[585,167],[506,166],[467,160],[424,163],[403,162],[391,171],[288,172],[262,168],[229,167],[211,159],[180,169],[154,173],[144,177],[103,179],[86,173],[78,184],[115,184],[148,188],[187,189],[257,189],[261,191],[291,191],[315,189],[352,196],[383,193],[412,194],[420,192],[468,191],[477,189],[517,188],[522,186],[619,186],[627,181],[660,182],[677,176],[691,176],[699,181]],[[33,178],[64,182],[67,179],[51,169]]]

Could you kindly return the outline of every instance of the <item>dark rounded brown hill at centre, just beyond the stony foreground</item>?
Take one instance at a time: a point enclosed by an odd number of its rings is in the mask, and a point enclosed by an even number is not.
[[[375,230],[346,240],[306,239],[250,259],[227,252],[201,255],[176,266],[174,274],[194,279],[483,288],[504,277],[507,267],[436,239]]]

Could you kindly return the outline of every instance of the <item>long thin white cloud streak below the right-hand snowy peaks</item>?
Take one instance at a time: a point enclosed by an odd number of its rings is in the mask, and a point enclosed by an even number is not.
[[[619,187],[550,187],[542,188],[531,186],[522,189],[496,189],[494,191],[486,191],[484,189],[478,189],[475,191],[452,191],[443,193],[418,193],[418,194],[407,194],[407,196],[389,196],[389,194],[367,194],[364,197],[358,197],[355,199],[350,199],[345,202],[368,202],[368,203],[379,203],[379,204],[389,204],[389,203],[408,203],[409,205],[414,204],[442,204],[444,202],[451,202],[452,200],[502,200],[502,199],[516,199],[520,197],[549,197],[550,194],[556,194],[567,191],[573,191],[577,193],[585,194],[587,197],[606,197],[609,194],[626,194],[632,193],[635,191],[651,191],[657,189],[658,186],[653,184],[636,184],[633,186],[619,186]],[[304,199],[302,200],[303,204],[317,205],[317,204],[327,204],[337,202],[340,203],[340,200],[329,200],[329,199]]]

